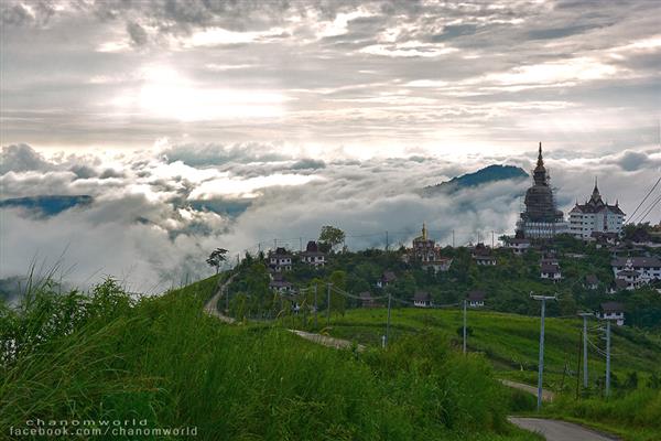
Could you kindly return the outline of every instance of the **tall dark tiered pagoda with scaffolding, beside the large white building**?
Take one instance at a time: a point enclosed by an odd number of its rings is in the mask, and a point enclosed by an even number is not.
[[[517,223],[517,230],[529,239],[550,238],[557,234],[568,233],[568,224],[564,220],[564,214],[555,207],[553,190],[542,158],[541,142],[532,179],[533,185],[525,192],[525,209]]]

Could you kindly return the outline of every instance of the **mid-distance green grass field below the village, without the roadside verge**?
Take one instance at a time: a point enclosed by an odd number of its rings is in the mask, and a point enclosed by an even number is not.
[[[318,320],[319,326],[326,325],[325,315],[321,314]],[[386,309],[348,310],[344,316],[333,314],[330,326],[322,332],[379,346],[381,335],[386,333]],[[444,333],[455,346],[460,346],[462,337],[457,331],[462,323],[460,310],[393,309],[390,341],[435,330]],[[468,351],[484,353],[492,362],[499,377],[537,384],[539,318],[469,309],[467,324],[470,329]],[[578,356],[583,347],[582,326],[583,322],[578,319],[545,320],[545,383],[554,390],[560,390],[561,386],[565,389],[575,388]],[[597,321],[588,323],[588,338],[603,349],[604,332],[597,330],[598,326],[602,323]],[[637,372],[643,379],[661,368],[661,342],[655,334],[613,326],[611,355],[611,369],[616,380],[625,380],[632,372]],[[605,375],[605,357],[590,345],[588,372],[593,386],[597,378]]]

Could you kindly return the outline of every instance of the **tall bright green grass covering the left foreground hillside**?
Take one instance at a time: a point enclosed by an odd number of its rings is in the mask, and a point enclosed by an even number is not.
[[[532,439],[506,424],[488,364],[436,334],[330,349],[221,324],[202,313],[207,288],[132,301],[108,281],[4,309],[17,349],[0,367],[0,438],[28,419],[137,418],[208,440]]]

